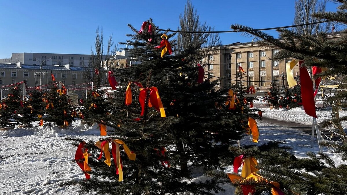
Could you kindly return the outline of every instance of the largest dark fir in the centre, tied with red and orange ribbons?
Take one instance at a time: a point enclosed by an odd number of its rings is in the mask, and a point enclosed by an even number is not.
[[[149,30],[154,27],[151,21],[144,23],[141,33],[129,26],[135,34],[128,35],[132,40],[123,44],[129,45],[130,54],[142,63],[113,69],[120,83],[126,85],[114,94],[116,110],[98,121],[108,126],[109,136],[96,142],[96,146],[94,142],[70,138],[81,144],[77,150],[78,163],[83,162],[83,147],[91,154],[90,176],[86,176],[90,179],[63,185],[76,184],[82,187],[83,193],[101,194],[219,192],[221,188],[213,179],[205,183],[191,182],[189,170],[197,166],[220,169],[223,156],[228,155],[227,148],[249,131],[249,116],[254,114],[247,110],[246,104],[251,100],[245,99],[247,87],[234,88],[237,98],[234,94],[226,97],[229,89],[215,90],[218,80],[203,80],[202,67],[192,63],[197,59],[190,53],[198,52],[198,48],[171,54],[170,44],[175,46],[172,34]],[[231,102],[235,109],[230,107]],[[129,152],[120,153],[122,182],[118,181],[120,167],[116,175],[115,164],[120,163],[117,151],[113,158],[109,154],[99,158],[100,148],[108,151],[102,145],[112,147],[113,151],[118,148],[115,142],[136,154],[134,158]],[[111,163],[105,164],[105,158]],[[86,166],[82,169],[90,170]]]

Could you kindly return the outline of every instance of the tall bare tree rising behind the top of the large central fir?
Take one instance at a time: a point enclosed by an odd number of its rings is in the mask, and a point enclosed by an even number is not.
[[[179,31],[214,31],[214,27],[211,27],[206,23],[200,22],[200,17],[197,11],[194,10],[191,0],[187,0],[184,8],[184,14],[179,16],[180,27]],[[186,51],[191,53],[193,63],[203,59],[213,50],[213,46],[220,45],[218,33],[178,33],[177,46],[179,51]],[[204,49],[202,49],[204,48]],[[200,50],[199,50],[200,49]],[[196,52],[198,51],[198,52]]]

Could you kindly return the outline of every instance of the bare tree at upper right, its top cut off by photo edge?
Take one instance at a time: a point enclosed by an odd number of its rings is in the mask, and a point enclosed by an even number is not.
[[[296,0],[294,25],[321,22],[322,18],[312,17],[312,14],[325,12],[326,3],[327,0]],[[317,35],[320,32],[327,33],[330,30],[330,23],[297,26],[293,30],[299,34]]]

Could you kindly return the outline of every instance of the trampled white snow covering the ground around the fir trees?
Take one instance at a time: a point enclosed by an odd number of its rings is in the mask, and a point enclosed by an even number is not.
[[[302,109],[270,110],[263,109],[263,116],[279,120],[292,120],[310,124],[312,118],[306,117]],[[345,113],[347,114],[347,112]],[[295,154],[304,157],[308,151],[318,152],[317,143],[310,148],[310,135],[288,127],[258,122],[259,143],[271,140],[285,140],[286,145],[293,148]],[[58,194],[71,195],[79,192],[78,187],[59,187],[65,180],[82,179],[84,174],[74,160],[76,147],[64,139],[75,136],[85,140],[100,139],[97,125],[89,127],[73,122],[69,129],[57,127],[16,128],[0,130],[0,194]],[[245,137],[241,144],[252,144],[250,137]],[[331,154],[326,148],[325,153],[340,161],[338,156]],[[232,167],[228,167],[232,171]],[[202,173],[195,175],[194,180],[205,180]],[[222,195],[234,194],[234,188],[225,185],[226,192]]]

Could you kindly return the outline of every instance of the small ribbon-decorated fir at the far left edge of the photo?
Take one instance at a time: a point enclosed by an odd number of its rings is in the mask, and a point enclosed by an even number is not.
[[[19,123],[18,109],[23,104],[22,90],[20,83],[13,85],[9,89],[7,97],[3,98],[0,105],[0,126],[14,126]]]

